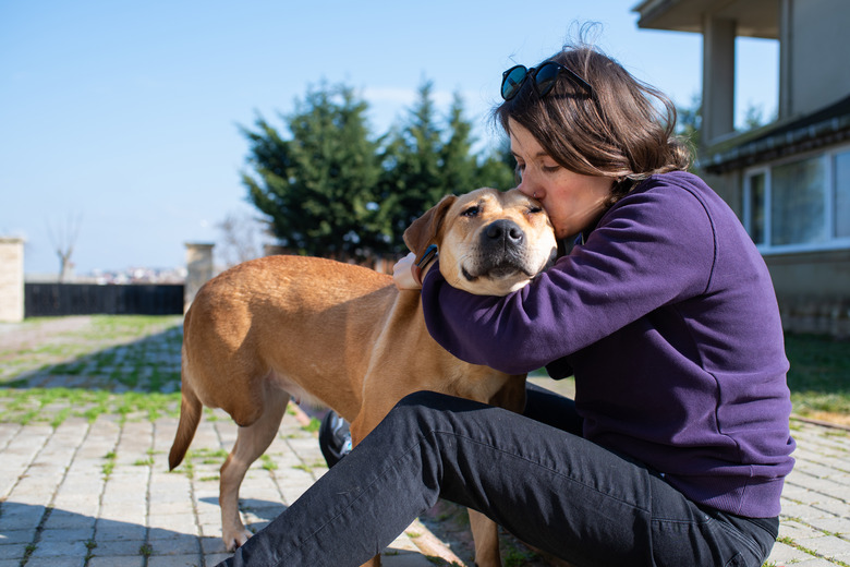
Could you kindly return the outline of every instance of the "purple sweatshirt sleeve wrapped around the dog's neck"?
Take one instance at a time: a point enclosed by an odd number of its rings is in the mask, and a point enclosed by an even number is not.
[[[705,293],[716,254],[706,207],[684,186],[643,185],[606,212],[584,245],[509,295],[464,292],[432,269],[422,289],[430,335],[466,362],[520,374]]]

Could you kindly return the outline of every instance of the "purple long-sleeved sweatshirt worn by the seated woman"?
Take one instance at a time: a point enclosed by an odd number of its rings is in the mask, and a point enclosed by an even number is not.
[[[510,295],[473,295],[432,269],[422,304],[432,336],[462,360],[574,374],[587,439],[699,504],[778,516],[794,441],[776,295],[740,221],[700,178],[640,183]]]

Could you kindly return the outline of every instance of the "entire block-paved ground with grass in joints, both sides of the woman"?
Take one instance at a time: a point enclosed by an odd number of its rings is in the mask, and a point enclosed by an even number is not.
[[[227,557],[218,469],[235,425],[207,411],[186,461],[167,472],[179,399],[178,323],[154,323],[143,338],[116,327],[118,338],[100,339],[94,353],[80,347],[93,336],[81,330],[84,324],[63,322],[52,334],[27,323],[0,325],[7,383],[0,388],[0,567],[201,567]],[[28,336],[35,338],[23,341]],[[289,413],[242,485],[244,520],[253,529],[326,471],[308,418]],[[850,433],[800,420],[792,429],[797,466],[766,565],[848,567]],[[388,567],[452,560],[463,565],[418,522],[384,557]]]

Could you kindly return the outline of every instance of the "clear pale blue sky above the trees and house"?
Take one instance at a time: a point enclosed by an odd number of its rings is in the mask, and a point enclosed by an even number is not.
[[[461,94],[484,144],[501,71],[550,56],[574,22],[600,23],[609,56],[690,106],[701,37],[638,29],[636,3],[3,0],[0,236],[25,238],[27,274],[58,270],[69,224],[77,274],[180,266],[185,242],[254,212],[240,124],[280,126],[326,81],[367,100],[382,134],[428,80],[440,111]],[[776,58],[773,41],[740,44],[739,113],[775,112]]]

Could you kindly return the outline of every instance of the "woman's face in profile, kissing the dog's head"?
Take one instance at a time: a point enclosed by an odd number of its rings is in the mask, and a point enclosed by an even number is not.
[[[611,194],[612,180],[563,168],[525,128],[513,120],[509,126],[511,153],[522,179],[518,189],[541,202],[555,236],[561,239],[578,234],[598,220]]]

